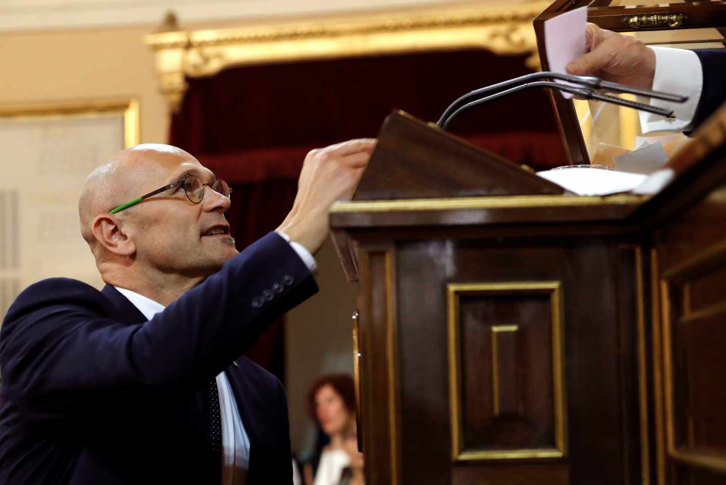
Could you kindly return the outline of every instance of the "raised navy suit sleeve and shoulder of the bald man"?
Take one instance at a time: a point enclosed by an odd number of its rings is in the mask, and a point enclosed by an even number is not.
[[[97,290],[58,280],[21,293],[0,332],[4,392],[36,419],[174,399],[224,370],[270,322],[317,291],[275,233],[139,325],[110,318]],[[278,291],[259,306],[273,285]]]

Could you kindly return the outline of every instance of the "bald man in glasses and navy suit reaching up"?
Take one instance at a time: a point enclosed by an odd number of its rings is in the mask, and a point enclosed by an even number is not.
[[[290,484],[280,382],[242,353],[317,291],[327,211],[373,140],[306,157],[293,210],[242,253],[227,183],[166,145],[124,150],[78,203],[106,282],[31,285],[0,329],[0,484]]]

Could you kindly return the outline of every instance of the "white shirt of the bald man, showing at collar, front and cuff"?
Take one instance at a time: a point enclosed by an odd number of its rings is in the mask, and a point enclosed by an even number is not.
[[[290,242],[290,237],[285,233],[277,232],[277,234],[290,243],[290,246],[300,256],[309,271],[315,274],[317,272],[317,263],[310,252],[303,245],[294,241]],[[126,290],[126,288],[119,288],[118,286],[114,288],[123,296],[126,296],[148,320],[164,309],[161,303],[157,303],[151,298]],[[216,380],[217,390],[219,391],[219,414],[222,431],[221,485],[245,485],[247,483],[247,471],[250,469],[250,438],[245,431],[245,425],[242,423],[240,408],[237,407],[237,402],[234,400],[227,374],[224,371],[220,372]]]

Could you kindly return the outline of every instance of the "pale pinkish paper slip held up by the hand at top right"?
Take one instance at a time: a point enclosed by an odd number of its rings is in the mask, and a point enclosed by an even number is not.
[[[570,10],[544,21],[544,52],[555,73],[567,73],[567,65],[587,52],[585,41],[587,7]],[[558,83],[563,81],[557,81]],[[567,99],[572,94],[560,91]]]

